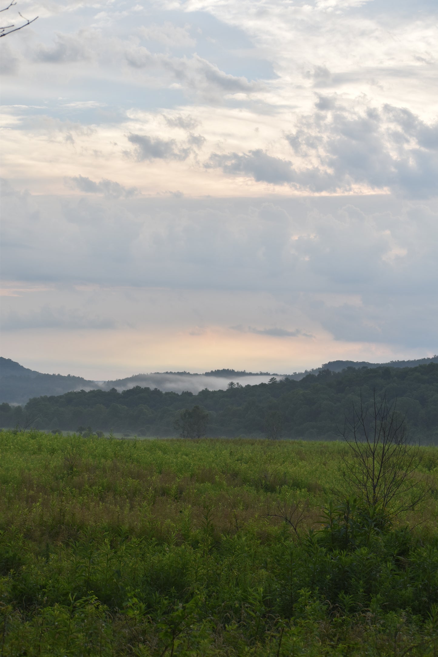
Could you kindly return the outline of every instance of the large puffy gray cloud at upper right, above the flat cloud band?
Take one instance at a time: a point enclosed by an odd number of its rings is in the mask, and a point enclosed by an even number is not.
[[[205,166],[232,175],[311,192],[349,192],[354,185],[389,188],[403,196],[437,194],[438,122],[428,125],[403,108],[347,110],[321,97],[324,113],[305,117],[286,135],[300,166],[261,149],[212,153]],[[318,164],[306,166],[306,161]]]

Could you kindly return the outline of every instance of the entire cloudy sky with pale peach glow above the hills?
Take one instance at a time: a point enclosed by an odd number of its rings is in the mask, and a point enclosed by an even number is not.
[[[17,11],[3,356],[102,380],[438,352],[436,0]]]

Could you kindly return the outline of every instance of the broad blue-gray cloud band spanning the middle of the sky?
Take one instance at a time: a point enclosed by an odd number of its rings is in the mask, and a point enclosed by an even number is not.
[[[10,189],[2,212],[3,279],[115,286],[114,296],[93,292],[84,314],[98,324],[114,322],[117,308],[133,326],[161,318],[169,326],[187,323],[187,330],[212,323],[285,340],[284,331],[295,327],[307,335],[322,328],[338,340],[436,351],[432,200],[87,194],[60,202]],[[146,292],[136,289],[158,291],[146,302]],[[61,306],[64,299],[62,293]],[[21,318],[30,313],[29,295],[8,303],[11,310],[22,304],[15,310]],[[28,325],[37,321],[32,315]],[[85,325],[83,318],[71,321]]]

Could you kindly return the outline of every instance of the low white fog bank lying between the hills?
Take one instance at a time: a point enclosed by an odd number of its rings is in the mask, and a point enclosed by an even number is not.
[[[250,374],[248,376],[236,376],[225,378],[223,376],[207,376],[206,374],[137,374],[127,379],[116,381],[99,381],[99,388],[110,390],[116,388],[118,392],[129,390],[134,386],[142,388],[158,388],[163,392],[192,392],[196,394],[204,388],[208,390],[226,390],[230,380],[240,383],[242,386],[254,386],[259,383],[267,383],[272,374]],[[278,380],[282,376],[276,376]]]

